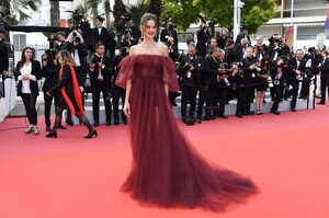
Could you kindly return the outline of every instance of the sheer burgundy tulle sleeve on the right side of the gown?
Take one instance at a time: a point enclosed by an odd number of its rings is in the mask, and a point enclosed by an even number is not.
[[[170,57],[163,57],[163,72],[162,80],[168,84],[170,91],[179,91],[178,76],[175,72],[175,65]]]

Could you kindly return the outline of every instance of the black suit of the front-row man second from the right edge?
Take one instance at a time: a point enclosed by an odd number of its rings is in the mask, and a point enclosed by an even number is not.
[[[291,110],[296,108],[296,102],[297,102],[297,95],[298,95],[299,81],[296,78],[297,74],[295,71],[300,70],[300,72],[305,72],[305,70],[306,70],[305,64],[306,64],[305,59],[300,59],[299,65],[297,64],[297,58],[291,58],[288,60],[288,73],[287,73],[286,85],[287,85],[287,89],[290,88],[290,85],[292,85],[292,89],[285,93],[285,97],[293,95]]]

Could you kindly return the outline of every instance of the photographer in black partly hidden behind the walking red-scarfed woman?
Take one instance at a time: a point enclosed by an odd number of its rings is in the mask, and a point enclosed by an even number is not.
[[[57,49],[48,49],[42,56],[42,77],[45,78],[43,92],[45,103],[45,123],[46,131],[50,131],[50,108],[53,100],[55,101],[55,107],[57,106],[60,93],[56,93],[52,96],[47,95],[47,91],[55,87],[59,78],[60,64],[57,61]],[[66,129],[65,126],[59,124],[58,128]]]

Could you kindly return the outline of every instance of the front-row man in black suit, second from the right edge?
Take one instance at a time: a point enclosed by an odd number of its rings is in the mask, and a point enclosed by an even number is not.
[[[291,111],[296,112],[296,102],[298,95],[298,84],[303,81],[303,77],[305,74],[305,64],[306,60],[303,59],[304,51],[302,49],[296,50],[296,57],[290,58],[288,60],[288,73],[287,73],[287,81],[286,85],[288,91],[285,93],[285,99],[293,95]],[[290,89],[290,85],[292,89]]]

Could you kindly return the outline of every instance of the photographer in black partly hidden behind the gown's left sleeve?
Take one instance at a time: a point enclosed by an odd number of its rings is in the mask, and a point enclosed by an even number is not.
[[[126,99],[126,90],[117,87],[116,84],[114,84],[117,73],[120,71],[120,62],[129,54],[129,48],[128,47],[123,47],[121,48],[117,54],[114,57],[113,60],[113,77],[112,77],[112,85],[113,85],[113,99],[112,99],[112,104],[113,104],[113,118],[114,118],[114,125],[118,125],[118,101],[121,99],[122,103],[124,104],[125,99]],[[122,123],[124,125],[127,124],[127,116],[125,115],[125,113],[121,112],[121,116],[122,116]]]

